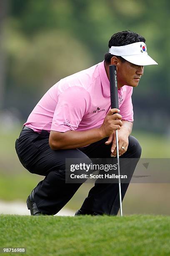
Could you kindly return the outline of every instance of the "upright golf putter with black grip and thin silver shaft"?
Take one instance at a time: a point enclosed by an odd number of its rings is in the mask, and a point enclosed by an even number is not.
[[[111,108],[119,109],[118,101],[118,91],[117,91],[117,72],[116,66],[109,66],[110,73],[110,101]],[[120,164],[119,164],[119,146],[118,146],[118,133],[116,130],[116,151],[117,151],[117,166],[118,166],[118,175],[119,175],[119,201],[120,201],[120,216],[122,216],[122,195],[121,195],[121,186],[120,186]]]

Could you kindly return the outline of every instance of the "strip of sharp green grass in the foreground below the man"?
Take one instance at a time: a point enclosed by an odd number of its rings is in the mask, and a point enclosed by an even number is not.
[[[0,246],[26,247],[29,256],[168,256],[169,230],[161,215],[0,215]]]

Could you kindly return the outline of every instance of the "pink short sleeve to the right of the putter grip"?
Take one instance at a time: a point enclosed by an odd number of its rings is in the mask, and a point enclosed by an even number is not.
[[[133,87],[130,87],[125,97],[125,100],[120,106],[120,115],[122,115],[122,120],[127,120],[130,122],[133,122],[132,93],[133,93]]]

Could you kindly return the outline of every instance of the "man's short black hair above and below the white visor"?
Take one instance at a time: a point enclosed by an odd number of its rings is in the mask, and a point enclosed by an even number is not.
[[[140,36],[140,34],[137,34],[130,30],[126,30],[126,31],[118,32],[112,35],[108,46],[109,48],[111,48],[111,46],[123,46],[123,45],[133,44],[137,42],[145,43],[145,41],[146,41],[145,38],[143,36]],[[115,55],[112,55],[108,52],[105,54],[105,61],[107,62],[107,64],[110,64],[110,60],[112,59],[113,56]],[[116,56],[116,57],[120,59],[122,62],[125,62],[125,59],[123,59],[121,56]]]

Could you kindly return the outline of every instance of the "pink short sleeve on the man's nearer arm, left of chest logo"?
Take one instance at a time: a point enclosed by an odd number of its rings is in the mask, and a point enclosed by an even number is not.
[[[60,93],[50,130],[75,131],[87,110],[89,100],[90,95],[83,87],[68,87]]]

